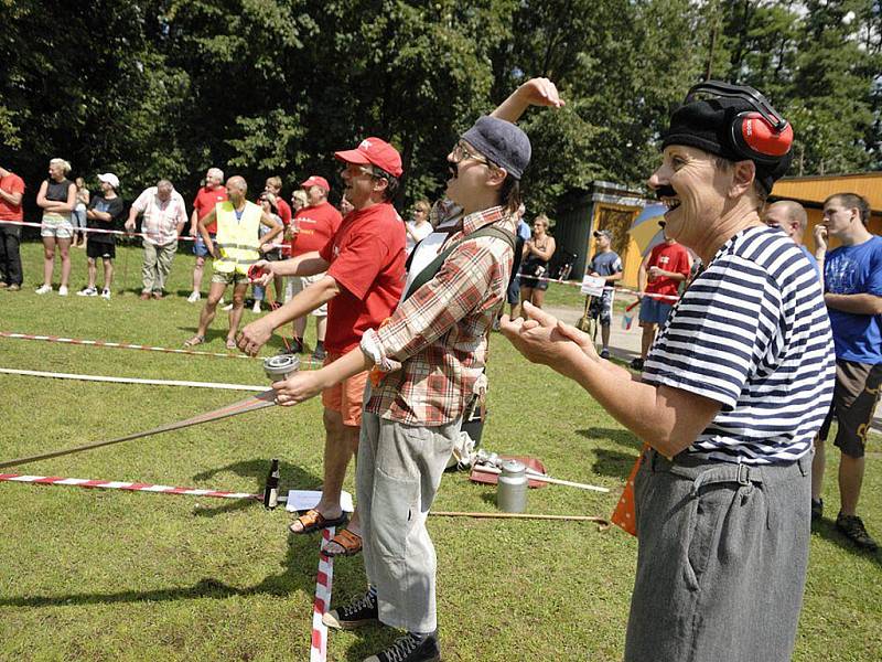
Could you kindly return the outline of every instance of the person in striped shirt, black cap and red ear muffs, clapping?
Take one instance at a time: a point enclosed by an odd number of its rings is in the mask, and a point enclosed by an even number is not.
[[[626,662],[786,662],[806,579],[811,442],[833,392],[817,273],[760,210],[793,131],[755,89],[707,82],[648,184],[704,265],[642,375],[528,307],[502,330],[644,441],[613,522],[637,535]]]

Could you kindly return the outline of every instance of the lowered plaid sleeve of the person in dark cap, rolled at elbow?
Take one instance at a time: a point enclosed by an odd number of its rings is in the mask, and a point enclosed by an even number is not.
[[[498,303],[495,281],[507,278],[491,249],[494,239],[464,242],[444,260],[435,277],[413,292],[377,331],[383,353],[402,362],[447,333],[470,312]],[[510,253],[510,249],[506,247]]]

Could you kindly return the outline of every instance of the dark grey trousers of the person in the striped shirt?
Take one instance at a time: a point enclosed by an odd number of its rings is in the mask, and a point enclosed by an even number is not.
[[[627,662],[790,659],[808,564],[810,469],[810,455],[747,467],[648,451],[634,481]]]

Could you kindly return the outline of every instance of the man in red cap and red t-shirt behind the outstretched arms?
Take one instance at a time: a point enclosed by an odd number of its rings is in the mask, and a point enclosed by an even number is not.
[[[343,216],[327,202],[327,194],[331,186],[327,180],[316,174],[311,175],[300,184],[306,193],[309,205],[299,209],[294,214],[292,223],[291,244],[288,247],[291,257],[299,257],[306,253],[321,250],[325,244],[336,234]],[[324,278],[324,273],[314,276],[301,276],[293,278],[292,292],[299,295],[313,282],[319,282]],[[315,318],[315,351],[312,357],[316,361],[324,361],[324,337],[327,331],[327,306],[320,306],[311,313]],[[303,351],[303,334],[306,331],[306,316],[300,317],[293,322],[294,341],[291,351],[300,353]]]

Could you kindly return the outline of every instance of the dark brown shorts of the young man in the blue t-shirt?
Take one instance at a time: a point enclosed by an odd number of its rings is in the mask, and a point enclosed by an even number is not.
[[[862,458],[882,385],[882,363],[837,360],[833,403],[818,436],[827,440],[833,417],[839,423],[833,444],[850,458]]]

